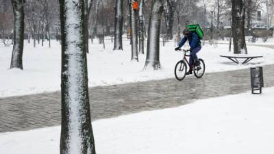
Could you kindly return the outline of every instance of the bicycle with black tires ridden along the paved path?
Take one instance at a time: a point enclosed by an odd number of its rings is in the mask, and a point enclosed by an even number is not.
[[[190,69],[190,64],[188,60],[186,59],[186,57],[189,57],[191,55],[186,54],[187,52],[190,52],[190,50],[179,49],[179,51],[184,51],[184,57],[175,65],[174,73],[175,73],[176,79],[179,81],[182,81],[186,77],[186,70],[189,71]],[[206,65],[201,58],[199,58],[198,60],[199,62],[193,63],[192,70],[194,71],[195,77],[201,78],[203,77],[203,74],[205,73]]]

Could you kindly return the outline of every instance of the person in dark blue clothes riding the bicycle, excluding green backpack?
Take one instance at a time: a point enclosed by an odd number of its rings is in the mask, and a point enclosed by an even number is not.
[[[186,40],[188,40],[190,45],[190,57],[189,57],[189,65],[190,69],[186,75],[192,74],[193,70],[193,62],[195,62],[195,66],[199,66],[200,62],[197,57],[197,53],[201,50],[201,41],[199,36],[195,32],[190,32],[188,28],[183,31],[184,38],[179,42],[179,46],[175,48],[175,51],[179,50]]]

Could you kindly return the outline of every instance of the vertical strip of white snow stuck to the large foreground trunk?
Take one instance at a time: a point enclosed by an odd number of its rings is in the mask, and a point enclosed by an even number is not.
[[[84,44],[82,41],[82,21],[80,20],[82,16],[81,8],[77,5],[77,1],[65,1],[64,2],[65,18],[64,23],[65,33],[66,33],[66,44],[64,49],[64,55],[66,60],[68,60],[67,66],[64,69],[64,77],[67,77],[68,93],[64,96],[65,102],[67,103],[69,110],[69,133],[66,136],[68,139],[67,143],[63,146],[66,147],[66,153],[82,153],[82,144],[84,142],[81,136],[82,129],[82,94],[84,93],[83,82],[83,49],[81,46]],[[84,112],[84,111],[82,111]]]

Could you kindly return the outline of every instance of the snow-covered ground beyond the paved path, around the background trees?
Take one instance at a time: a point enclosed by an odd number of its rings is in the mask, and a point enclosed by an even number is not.
[[[103,49],[103,44],[97,43],[97,40],[94,44],[90,43],[88,54],[88,85],[90,87],[174,78],[174,66],[182,58],[182,52],[174,51],[174,42],[166,43],[164,47],[161,44],[162,70],[142,71],[145,65],[145,55],[139,55],[138,63],[131,62],[131,48],[128,40],[123,41],[123,51],[112,51],[113,44],[110,39],[105,42],[105,49]],[[264,55],[264,57],[252,60],[247,65],[234,64],[224,57],[219,57],[219,55],[232,54],[227,49],[227,44],[219,44],[217,48],[208,44],[203,46],[198,56],[206,62],[206,73],[274,63],[273,49],[248,47],[249,55]],[[9,69],[12,46],[4,47],[0,43],[0,51],[0,97],[60,90],[61,47],[59,42],[52,41],[50,49],[47,43],[45,47],[38,44],[34,48],[33,44],[25,42],[24,70]]]

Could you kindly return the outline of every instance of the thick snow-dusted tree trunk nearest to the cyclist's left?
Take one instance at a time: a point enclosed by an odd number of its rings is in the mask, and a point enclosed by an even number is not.
[[[163,12],[163,0],[153,0],[151,14],[149,16],[149,31],[147,38],[147,58],[144,70],[153,68],[158,70],[160,66],[160,25]]]

